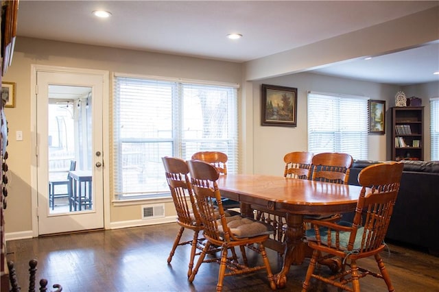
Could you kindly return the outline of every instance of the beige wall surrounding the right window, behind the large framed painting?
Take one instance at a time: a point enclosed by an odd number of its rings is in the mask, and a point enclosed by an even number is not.
[[[261,125],[261,84],[298,88],[297,127]],[[283,156],[286,153],[290,151],[307,151],[307,91],[340,93],[385,100],[385,106],[388,109],[394,105],[392,104],[394,95],[400,89],[399,86],[348,80],[313,73],[297,73],[253,82],[252,90],[253,171],[254,173],[281,175],[285,166]],[[386,124],[387,133],[390,119],[386,121]],[[386,137],[387,135],[369,136],[368,159],[386,160],[389,158]]]

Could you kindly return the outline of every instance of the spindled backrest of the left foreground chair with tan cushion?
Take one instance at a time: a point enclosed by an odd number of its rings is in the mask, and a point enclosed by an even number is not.
[[[191,184],[195,193],[198,211],[204,226],[204,236],[214,241],[230,241],[233,234],[230,233],[227,226],[221,193],[219,193],[217,186],[219,172],[213,165],[201,160],[189,160],[187,165],[191,173]],[[217,207],[215,207],[215,204],[217,204]]]

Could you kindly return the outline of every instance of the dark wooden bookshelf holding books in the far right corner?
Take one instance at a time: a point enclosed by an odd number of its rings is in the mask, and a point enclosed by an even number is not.
[[[392,160],[424,160],[424,107],[392,108]]]

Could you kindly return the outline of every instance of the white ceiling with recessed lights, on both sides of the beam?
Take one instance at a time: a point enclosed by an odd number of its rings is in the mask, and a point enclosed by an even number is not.
[[[438,5],[439,1],[22,0],[17,35],[248,62]],[[112,16],[96,19],[93,10],[107,10]],[[243,38],[229,40],[230,33]],[[435,71],[439,42],[312,72],[407,85],[438,81]]]

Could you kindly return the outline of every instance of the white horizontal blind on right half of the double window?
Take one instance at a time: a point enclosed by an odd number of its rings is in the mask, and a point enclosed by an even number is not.
[[[228,155],[228,173],[237,171],[237,90],[230,87],[182,84],[181,156],[197,151]]]

